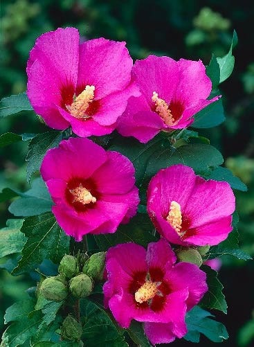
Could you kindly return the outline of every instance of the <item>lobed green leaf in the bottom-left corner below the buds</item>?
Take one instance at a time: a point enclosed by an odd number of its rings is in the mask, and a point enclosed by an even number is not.
[[[6,310],[5,321],[15,321],[3,332],[2,344],[8,347],[21,346],[37,332],[37,326],[41,320],[40,312],[35,312],[28,318],[33,310],[34,301],[26,299],[15,303]]]

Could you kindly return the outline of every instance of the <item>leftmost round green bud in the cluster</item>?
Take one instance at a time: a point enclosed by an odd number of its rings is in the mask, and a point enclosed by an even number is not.
[[[45,299],[53,301],[62,301],[68,295],[66,282],[60,276],[45,278],[39,291]]]

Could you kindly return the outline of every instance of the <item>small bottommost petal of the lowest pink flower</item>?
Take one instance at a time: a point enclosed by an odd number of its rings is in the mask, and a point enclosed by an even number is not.
[[[172,323],[145,322],[144,331],[149,341],[155,344],[169,344],[176,339],[172,332]]]

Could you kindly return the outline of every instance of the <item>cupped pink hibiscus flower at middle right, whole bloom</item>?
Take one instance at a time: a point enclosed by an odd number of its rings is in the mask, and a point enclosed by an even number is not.
[[[235,196],[227,182],[206,181],[179,164],[152,177],[147,211],[168,241],[187,247],[215,245],[233,229]]]

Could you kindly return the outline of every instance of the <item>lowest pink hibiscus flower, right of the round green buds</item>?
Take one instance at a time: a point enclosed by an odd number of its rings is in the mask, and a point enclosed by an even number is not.
[[[183,337],[185,313],[208,290],[206,274],[197,265],[176,263],[164,239],[149,243],[118,244],[107,251],[107,282],[103,286],[105,307],[128,328],[131,319],[144,322],[152,344]]]

